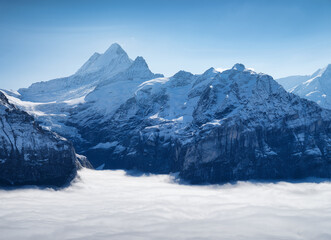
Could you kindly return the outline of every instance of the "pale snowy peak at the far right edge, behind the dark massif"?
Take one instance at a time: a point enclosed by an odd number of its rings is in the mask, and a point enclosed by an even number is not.
[[[291,76],[277,81],[289,92],[331,109],[331,64],[309,76]]]

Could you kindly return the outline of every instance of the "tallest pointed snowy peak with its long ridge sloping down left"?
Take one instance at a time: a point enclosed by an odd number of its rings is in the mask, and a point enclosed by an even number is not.
[[[132,60],[120,45],[114,43],[104,54],[95,53],[72,76],[37,82],[18,90],[20,98],[33,102],[77,101],[95,86],[129,68]]]

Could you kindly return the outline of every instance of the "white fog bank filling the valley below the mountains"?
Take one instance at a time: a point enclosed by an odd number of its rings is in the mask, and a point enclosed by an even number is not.
[[[0,239],[331,239],[331,183],[187,186],[81,170],[72,186],[0,190]]]

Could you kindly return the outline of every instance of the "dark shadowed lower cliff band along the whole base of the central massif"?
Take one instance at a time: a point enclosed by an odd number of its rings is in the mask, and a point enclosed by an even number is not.
[[[106,159],[105,168],[110,169],[180,172],[191,183],[331,177],[329,121],[317,120],[295,128],[284,122],[281,127],[247,130],[238,120],[234,125],[193,130],[188,143],[181,136],[167,138],[161,131],[137,128],[141,130],[126,135],[111,132],[125,146],[122,152],[114,147],[89,151],[88,156]]]

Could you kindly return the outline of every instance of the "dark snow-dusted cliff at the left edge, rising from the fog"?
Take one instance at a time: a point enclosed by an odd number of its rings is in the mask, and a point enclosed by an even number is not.
[[[62,186],[78,167],[67,140],[39,127],[0,92],[0,185]]]

